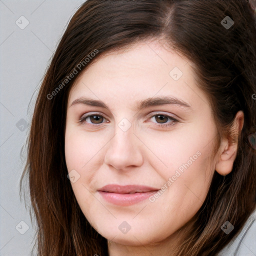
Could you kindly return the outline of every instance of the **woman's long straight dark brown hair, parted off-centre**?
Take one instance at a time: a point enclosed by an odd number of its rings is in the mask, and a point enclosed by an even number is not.
[[[176,255],[215,255],[237,235],[255,209],[256,196],[256,154],[246,143],[256,130],[253,15],[246,0],[87,0],[79,7],[40,86],[20,181],[21,188],[28,175],[38,256],[108,255],[107,240],[86,220],[66,176],[67,97],[79,74],[104,53],[154,38],[192,61],[198,86],[210,99],[217,145],[222,134],[232,136],[237,111],[244,113],[233,169],[226,176],[214,172],[193,230]],[[226,16],[234,22],[228,28],[221,22]],[[86,56],[89,61],[79,64]],[[234,226],[229,234],[220,228],[226,220]]]

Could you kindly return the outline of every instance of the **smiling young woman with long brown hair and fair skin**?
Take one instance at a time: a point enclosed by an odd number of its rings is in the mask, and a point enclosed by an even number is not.
[[[246,0],[80,6],[28,140],[38,255],[238,255],[255,210],[255,27]]]

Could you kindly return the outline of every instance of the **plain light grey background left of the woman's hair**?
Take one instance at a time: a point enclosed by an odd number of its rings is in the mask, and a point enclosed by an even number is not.
[[[83,1],[0,0],[0,256],[29,255],[32,247],[29,198],[25,208],[19,196],[21,148],[45,69]]]

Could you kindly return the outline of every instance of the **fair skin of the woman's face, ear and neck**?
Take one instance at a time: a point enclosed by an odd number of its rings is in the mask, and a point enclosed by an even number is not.
[[[177,80],[169,75],[173,67],[182,71]],[[165,103],[137,109],[140,101],[158,96],[176,97],[189,107]],[[101,100],[107,108],[72,104],[82,97]],[[85,118],[85,114],[97,116]],[[173,125],[161,127],[161,123]],[[238,112],[236,134],[242,123],[243,114]],[[190,61],[159,42],[141,42],[127,51],[106,54],[76,80],[67,102],[66,165],[68,172],[74,169],[80,175],[71,183],[74,195],[90,224],[108,240],[110,256],[171,255],[170,248],[182,239],[188,221],[201,207],[214,171],[224,175],[232,169],[237,144],[228,137],[210,157],[216,132]],[[175,178],[184,163],[188,166]],[[165,184],[165,189],[151,200],[118,205],[98,191],[107,184],[158,190]],[[126,233],[121,223],[130,228]]]

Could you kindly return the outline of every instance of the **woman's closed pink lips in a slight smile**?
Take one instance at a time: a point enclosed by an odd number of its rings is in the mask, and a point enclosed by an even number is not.
[[[120,206],[129,206],[141,202],[159,189],[142,185],[116,185],[108,184],[97,191],[105,201]]]

